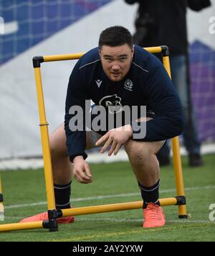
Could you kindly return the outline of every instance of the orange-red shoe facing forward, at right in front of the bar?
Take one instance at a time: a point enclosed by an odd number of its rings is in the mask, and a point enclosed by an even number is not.
[[[149,203],[146,209],[143,209],[143,228],[163,227],[166,223],[163,209],[157,204]]]

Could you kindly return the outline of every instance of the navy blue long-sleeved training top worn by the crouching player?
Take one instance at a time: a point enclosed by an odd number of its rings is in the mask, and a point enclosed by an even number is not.
[[[109,104],[120,102],[120,106],[146,106],[153,119],[146,122],[145,137],[138,141],[161,141],[183,132],[181,101],[168,73],[158,58],[137,45],[130,70],[120,82],[110,81],[106,76],[98,47],[83,55],[72,70],[65,106],[65,132],[71,161],[77,155],[87,157],[85,129],[72,132],[69,126],[75,116],[75,113],[69,114],[70,107],[81,106],[85,111],[87,99],[105,107],[107,101]],[[131,125],[133,127],[133,122]]]

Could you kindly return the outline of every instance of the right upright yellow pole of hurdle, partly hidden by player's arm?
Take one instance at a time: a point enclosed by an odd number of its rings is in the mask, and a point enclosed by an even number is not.
[[[171,78],[171,68],[170,68],[168,56],[163,56],[163,65],[166,68],[168,76]],[[183,173],[182,173],[182,166],[181,166],[179,137],[174,137],[172,139],[172,147],[173,147],[174,172],[175,172],[175,178],[176,178],[176,195],[185,196],[184,187],[183,187]],[[182,218],[187,216],[186,205],[178,206],[178,216]]]

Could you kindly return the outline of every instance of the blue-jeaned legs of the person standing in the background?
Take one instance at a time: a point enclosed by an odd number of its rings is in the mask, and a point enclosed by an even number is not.
[[[171,62],[171,76],[173,80],[173,84],[176,86],[178,91],[178,95],[181,99],[181,104],[183,107],[184,114],[184,131],[183,131],[183,143],[188,152],[188,160],[189,165],[191,166],[199,166],[202,165],[201,160],[201,142],[199,140],[197,124],[196,124],[196,116],[194,113],[194,107],[189,102],[189,88],[187,81],[187,69],[186,69],[186,56],[185,55],[177,55],[170,58]],[[189,105],[190,104],[190,105]],[[161,158],[160,165],[162,163],[168,163],[168,144],[158,152],[158,160]]]

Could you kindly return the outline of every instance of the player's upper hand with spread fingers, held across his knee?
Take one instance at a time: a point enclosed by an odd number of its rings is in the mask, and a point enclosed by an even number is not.
[[[132,134],[133,129],[130,124],[127,124],[124,127],[111,129],[104,136],[102,136],[100,140],[97,140],[95,145],[99,146],[102,144],[102,142],[105,142],[105,145],[102,147],[100,152],[105,152],[105,150],[107,150],[107,148],[111,146],[108,155],[112,155],[113,152],[114,155],[117,155],[120,147],[132,137]]]

